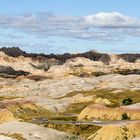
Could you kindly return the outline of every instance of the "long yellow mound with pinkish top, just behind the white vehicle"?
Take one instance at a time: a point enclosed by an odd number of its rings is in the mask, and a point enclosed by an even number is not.
[[[140,119],[140,108],[136,108],[135,105],[130,105],[129,107],[116,107],[110,108],[104,105],[90,105],[86,107],[78,116],[79,120],[82,119],[102,119],[102,120],[121,120],[123,119],[123,114],[126,113],[127,116],[132,119]]]

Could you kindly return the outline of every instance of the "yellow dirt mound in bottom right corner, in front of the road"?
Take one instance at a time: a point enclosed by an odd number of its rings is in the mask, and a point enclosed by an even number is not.
[[[140,123],[128,126],[104,126],[88,140],[132,140],[140,137]]]

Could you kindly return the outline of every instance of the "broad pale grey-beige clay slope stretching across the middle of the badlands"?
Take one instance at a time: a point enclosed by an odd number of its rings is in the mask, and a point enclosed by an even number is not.
[[[92,100],[92,97],[83,97],[83,95],[57,99],[70,92],[89,91],[92,89],[138,90],[140,89],[139,83],[140,75],[123,76],[118,74],[88,78],[67,76],[61,79],[46,79],[39,82],[26,78],[20,80],[0,78],[0,94],[3,96],[23,97],[24,100],[33,101],[45,109],[56,111],[55,109],[57,108],[57,111],[61,112],[76,100],[77,102]]]

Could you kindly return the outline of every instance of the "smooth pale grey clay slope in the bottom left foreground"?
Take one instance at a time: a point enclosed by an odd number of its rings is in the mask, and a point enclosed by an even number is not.
[[[0,133],[21,134],[27,140],[70,140],[72,138],[73,140],[80,140],[80,138],[64,132],[17,121],[0,124]]]

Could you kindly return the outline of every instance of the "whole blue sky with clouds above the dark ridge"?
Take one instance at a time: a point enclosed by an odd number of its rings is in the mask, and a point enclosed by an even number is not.
[[[140,0],[1,0],[0,47],[140,53]]]

